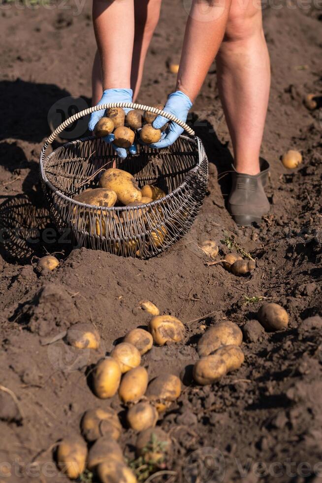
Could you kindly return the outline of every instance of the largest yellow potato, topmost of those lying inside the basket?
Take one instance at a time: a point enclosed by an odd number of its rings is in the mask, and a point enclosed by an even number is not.
[[[117,195],[117,199],[123,205],[141,201],[142,193],[134,177],[126,171],[116,168],[106,170],[100,177],[99,185],[102,188],[113,190]]]

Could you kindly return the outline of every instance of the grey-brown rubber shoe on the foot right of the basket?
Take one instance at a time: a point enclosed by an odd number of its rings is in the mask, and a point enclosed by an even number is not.
[[[260,173],[256,175],[237,173],[232,165],[232,187],[228,198],[228,211],[237,225],[248,226],[260,223],[269,211],[265,186],[269,164],[260,158]]]

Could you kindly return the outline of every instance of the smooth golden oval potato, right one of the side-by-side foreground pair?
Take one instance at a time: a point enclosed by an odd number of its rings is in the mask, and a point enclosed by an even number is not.
[[[148,387],[149,376],[144,367],[135,367],[122,378],[119,396],[123,403],[135,403],[141,399]]]

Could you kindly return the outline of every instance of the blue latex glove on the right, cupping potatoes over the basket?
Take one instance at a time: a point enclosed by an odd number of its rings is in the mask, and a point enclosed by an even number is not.
[[[173,92],[169,95],[168,100],[164,106],[164,111],[169,112],[176,116],[180,121],[186,122],[189,110],[192,108],[193,103],[186,94],[181,91]],[[168,120],[166,117],[158,116],[152,123],[155,129],[161,129]],[[179,136],[184,132],[184,129],[178,126],[175,122],[170,122],[169,127],[162,133],[160,141],[149,146],[153,148],[162,148],[170,146],[176,141]]]

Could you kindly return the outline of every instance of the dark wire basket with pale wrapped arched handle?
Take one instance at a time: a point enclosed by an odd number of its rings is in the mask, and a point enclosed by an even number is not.
[[[46,149],[62,131],[98,109],[123,107],[148,110],[177,122],[191,136],[180,136],[164,149],[137,144],[137,154],[119,159],[111,144],[89,137],[68,142],[46,156]],[[73,198],[98,186],[108,168],[131,173],[140,188],[153,185],[166,196],[138,206],[98,207]],[[40,177],[50,216],[64,238],[77,246],[116,255],[147,259],[178,241],[191,227],[205,196],[208,161],[199,138],[185,123],[155,107],[113,103],[78,112],[46,140],[40,153]]]

